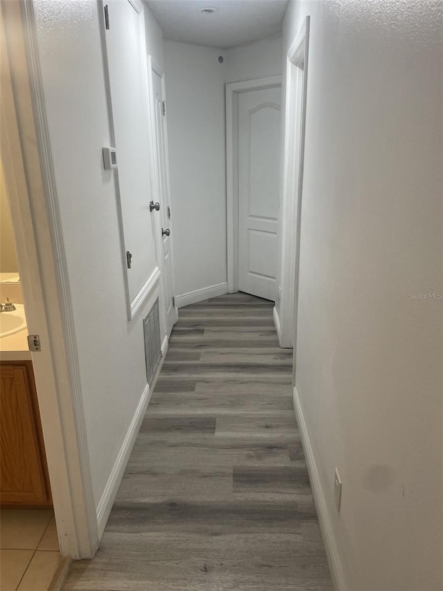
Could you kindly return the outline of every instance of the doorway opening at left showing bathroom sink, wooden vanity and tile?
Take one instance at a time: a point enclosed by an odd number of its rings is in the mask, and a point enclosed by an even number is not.
[[[63,560],[4,174],[8,156],[0,158],[0,584],[15,590],[36,577],[49,586]]]

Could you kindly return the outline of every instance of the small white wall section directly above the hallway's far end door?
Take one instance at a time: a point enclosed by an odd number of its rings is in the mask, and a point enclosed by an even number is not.
[[[242,82],[282,73],[282,35],[228,49],[226,82]]]

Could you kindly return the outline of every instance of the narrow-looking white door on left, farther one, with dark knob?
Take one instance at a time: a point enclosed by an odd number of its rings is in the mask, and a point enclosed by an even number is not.
[[[177,308],[174,306],[174,269],[172,258],[171,201],[168,179],[168,153],[165,132],[165,107],[163,80],[152,70],[152,91],[154,94],[154,116],[156,126],[156,156],[158,182],[156,199],[160,204],[161,219],[161,276],[163,283],[163,310],[167,334],[177,322]],[[168,235],[169,231],[169,235]]]

